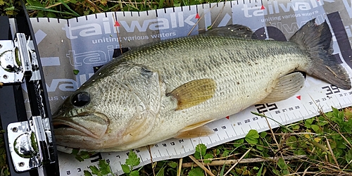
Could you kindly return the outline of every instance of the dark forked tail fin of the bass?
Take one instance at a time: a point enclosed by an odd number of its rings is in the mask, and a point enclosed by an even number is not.
[[[348,73],[332,56],[332,34],[326,21],[321,25],[316,25],[315,19],[308,21],[289,40],[310,54],[312,63],[306,70],[308,75],[341,89],[351,89]]]

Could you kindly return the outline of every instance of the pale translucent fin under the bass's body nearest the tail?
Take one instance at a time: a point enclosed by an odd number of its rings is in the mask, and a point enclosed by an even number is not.
[[[299,72],[284,75],[279,78],[272,92],[259,103],[273,103],[288,99],[303,87],[304,81],[304,75]]]

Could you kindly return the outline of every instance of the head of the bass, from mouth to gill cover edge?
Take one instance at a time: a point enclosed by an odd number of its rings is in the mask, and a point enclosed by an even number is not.
[[[160,106],[158,73],[136,65],[127,68],[93,77],[65,99],[53,115],[58,145],[118,150],[151,131]]]

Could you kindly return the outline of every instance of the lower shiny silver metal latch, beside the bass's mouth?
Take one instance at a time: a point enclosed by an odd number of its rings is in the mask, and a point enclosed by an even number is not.
[[[18,172],[55,162],[48,118],[33,116],[32,120],[14,122],[8,125],[7,131],[11,157]]]

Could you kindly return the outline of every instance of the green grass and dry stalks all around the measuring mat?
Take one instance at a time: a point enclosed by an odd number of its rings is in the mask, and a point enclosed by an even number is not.
[[[27,0],[31,17],[75,18],[105,11],[146,11],[212,3],[217,0]],[[18,13],[19,4],[0,0],[1,15]],[[189,157],[158,161],[139,168],[139,175],[349,175],[352,172],[352,108],[282,126],[251,131],[244,139],[206,149]],[[8,175],[0,134],[0,175]],[[136,159],[136,158],[134,158]],[[137,160],[137,159],[136,159]],[[101,166],[101,168],[100,168]],[[199,167],[201,166],[201,167]],[[127,175],[132,175],[127,165]],[[104,163],[94,173],[106,168]],[[91,168],[92,169],[92,168]],[[91,170],[92,171],[92,170]],[[88,174],[88,173],[87,173]]]

